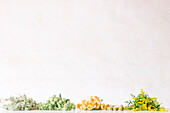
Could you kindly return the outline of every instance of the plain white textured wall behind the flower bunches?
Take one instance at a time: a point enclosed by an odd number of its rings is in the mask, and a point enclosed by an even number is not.
[[[169,0],[0,0],[0,97],[170,106]]]

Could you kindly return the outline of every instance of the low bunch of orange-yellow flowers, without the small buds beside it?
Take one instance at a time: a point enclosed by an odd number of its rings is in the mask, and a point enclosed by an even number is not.
[[[110,107],[105,105],[97,96],[91,96],[90,100],[83,100],[81,104],[77,104],[77,108],[81,110],[106,110]]]

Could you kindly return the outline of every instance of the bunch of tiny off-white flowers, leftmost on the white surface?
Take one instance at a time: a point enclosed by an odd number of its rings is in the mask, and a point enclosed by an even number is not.
[[[3,99],[3,108],[12,111],[24,111],[24,110],[38,110],[39,104],[32,98],[27,98],[26,95],[20,95],[18,97],[11,96],[10,98]]]

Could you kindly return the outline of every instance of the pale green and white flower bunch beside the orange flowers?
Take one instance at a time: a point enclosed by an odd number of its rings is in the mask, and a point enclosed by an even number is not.
[[[75,104],[70,103],[69,99],[62,98],[61,94],[59,97],[56,95],[52,96],[47,100],[47,103],[40,103],[40,110],[72,110],[75,109]]]

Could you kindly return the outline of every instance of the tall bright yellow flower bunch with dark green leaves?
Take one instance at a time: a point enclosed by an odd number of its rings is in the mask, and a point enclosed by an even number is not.
[[[128,105],[125,107],[125,110],[132,110],[132,111],[167,111],[165,108],[160,106],[157,102],[157,98],[151,98],[148,94],[145,94],[143,89],[141,89],[141,93],[135,97],[131,94],[133,101],[126,101]]]

